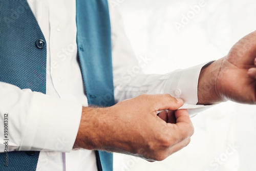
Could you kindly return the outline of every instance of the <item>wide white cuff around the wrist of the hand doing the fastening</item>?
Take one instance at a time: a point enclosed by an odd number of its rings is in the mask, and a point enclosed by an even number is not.
[[[33,92],[19,151],[70,152],[79,129],[82,105]]]

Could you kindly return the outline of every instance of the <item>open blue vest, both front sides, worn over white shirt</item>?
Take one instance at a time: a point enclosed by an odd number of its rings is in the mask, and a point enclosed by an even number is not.
[[[77,0],[77,46],[89,104],[114,104],[111,30],[106,0]],[[0,81],[46,93],[46,44],[26,0],[0,0]],[[98,170],[113,170],[113,155],[96,151]],[[0,158],[5,157],[0,153]],[[8,152],[8,167],[36,170],[39,152]]]

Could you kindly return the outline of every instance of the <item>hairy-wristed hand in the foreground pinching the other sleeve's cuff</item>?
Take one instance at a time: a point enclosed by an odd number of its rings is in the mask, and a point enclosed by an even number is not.
[[[183,100],[162,94],[140,95],[109,108],[83,108],[74,148],[163,160],[185,147],[194,133],[187,110],[175,111],[182,105]],[[165,111],[157,116],[161,110],[173,111],[168,116],[175,113],[176,118],[167,123]]]

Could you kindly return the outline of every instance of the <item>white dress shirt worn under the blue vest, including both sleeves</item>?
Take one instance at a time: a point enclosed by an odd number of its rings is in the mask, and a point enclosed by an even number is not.
[[[41,151],[37,170],[96,171],[94,151],[72,150],[82,105],[88,105],[77,59],[76,1],[28,3],[47,41],[47,95],[0,82],[0,122],[9,113],[9,151]],[[116,102],[143,93],[169,93],[185,100],[183,108],[202,107],[195,104],[205,63],[165,75],[143,74],[141,68],[150,59],[135,57],[117,9],[110,8],[110,17]],[[1,143],[1,153],[3,147]]]

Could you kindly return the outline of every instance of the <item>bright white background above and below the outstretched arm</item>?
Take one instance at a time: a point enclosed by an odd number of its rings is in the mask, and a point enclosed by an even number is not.
[[[125,31],[137,57],[153,60],[146,73],[167,73],[225,56],[232,45],[256,30],[256,1],[113,0],[124,19]],[[110,7],[110,8],[113,8]],[[182,15],[189,23],[178,30]],[[192,118],[195,134],[190,144],[164,161],[149,163],[115,154],[115,171],[137,170],[256,170],[256,106],[218,104]],[[217,161],[218,160],[218,161]]]

